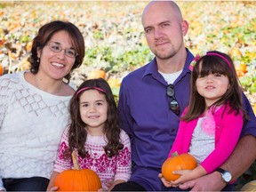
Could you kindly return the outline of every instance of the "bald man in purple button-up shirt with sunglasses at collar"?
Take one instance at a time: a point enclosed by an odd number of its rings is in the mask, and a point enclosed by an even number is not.
[[[158,173],[175,139],[180,114],[188,106],[188,67],[194,59],[183,39],[188,32],[188,22],[182,19],[180,8],[174,2],[156,1],[144,9],[142,24],[148,46],[156,58],[124,77],[121,85],[118,108],[122,128],[132,140],[134,166],[131,179],[113,190],[172,190],[164,188]],[[245,97],[244,108],[251,121],[246,122],[234,154],[221,166],[229,176],[231,173],[232,180],[236,180],[256,157],[252,147],[256,147],[256,120]],[[227,184],[221,180],[221,174],[212,172],[180,188],[221,190]]]

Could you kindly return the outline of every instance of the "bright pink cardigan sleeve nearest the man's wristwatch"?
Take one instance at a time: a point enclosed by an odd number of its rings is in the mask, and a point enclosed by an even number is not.
[[[217,139],[215,149],[201,163],[207,173],[220,167],[236,147],[243,126],[243,117],[241,114],[236,116],[234,113],[228,114],[226,111],[222,116],[220,127],[218,125],[216,127],[220,129],[217,130],[220,133],[215,135]]]

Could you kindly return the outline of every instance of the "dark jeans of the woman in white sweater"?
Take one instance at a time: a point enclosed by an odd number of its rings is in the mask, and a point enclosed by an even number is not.
[[[46,191],[49,180],[43,177],[3,179],[6,191]]]

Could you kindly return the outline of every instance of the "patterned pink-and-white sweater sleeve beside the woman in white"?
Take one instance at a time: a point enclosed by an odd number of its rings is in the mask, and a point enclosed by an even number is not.
[[[60,140],[60,146],[53,166],[54,172],[63,172],[72,168],[71,158],[67,159],[64,157],[64,151],[68,148],[68,128],[63,132]]]

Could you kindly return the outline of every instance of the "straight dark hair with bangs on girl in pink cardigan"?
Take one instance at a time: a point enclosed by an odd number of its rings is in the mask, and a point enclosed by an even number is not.
[[[233,60],[222,52],[211,51],[206,55],[196,60],[196,65],[193,68],[190,79],[190,100],[188,106],[188,112],[181,119],[184,121],[190,121],[199,116],[202,116],[206,107],[204,97],[201,96],[196,89],[196,79],[199,76],[208,76],[209,74],[220,74],[228,77],[229,88],[227,92],[212,104],[211,107],[215,108],[222,104],[228,104],[230,106],[230,113],[236,112],[236,115],[243,112],[245,116],[243,101],[242,101],[242,88],[240,86],[238,77],[236,75],[236,68]],[[214,110],[213,110],[214,111]]]

